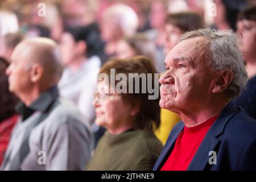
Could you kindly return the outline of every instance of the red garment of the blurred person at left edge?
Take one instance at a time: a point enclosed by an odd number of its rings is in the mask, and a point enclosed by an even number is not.
[[[11,137],[11,131],[18,120],[18,115],[6,119],[0,123],[0,166],[3,160],[3,155],[8,147]]]

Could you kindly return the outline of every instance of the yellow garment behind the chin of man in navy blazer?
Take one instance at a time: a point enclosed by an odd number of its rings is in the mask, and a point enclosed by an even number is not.
[[[172,127],[180,121],[179,116],[176,113],[173,113],[167,109],[160,110],[160,126],[155,130],[156,137],[163,143],[166,143],[166,140],[172,130]]]

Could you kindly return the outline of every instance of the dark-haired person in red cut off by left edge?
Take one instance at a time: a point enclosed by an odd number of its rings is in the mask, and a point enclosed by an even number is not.
[[[11,131],[18,119],[15,112],[18,99],[9,92],[8,77],[5,75],[8,65],[5,59],[0,58],[0,165],[11,137]]]

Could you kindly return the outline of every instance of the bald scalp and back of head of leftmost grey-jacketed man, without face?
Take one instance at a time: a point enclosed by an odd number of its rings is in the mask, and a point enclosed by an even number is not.
[[[57,44],[47,38],[31,38],[23,40],[14,49],[12,59],[26,57],[24,64],[27,69],[40,65],[42,76],[40,85],[50,87],[60,80],[63,66],[61,65],[60,52]]]

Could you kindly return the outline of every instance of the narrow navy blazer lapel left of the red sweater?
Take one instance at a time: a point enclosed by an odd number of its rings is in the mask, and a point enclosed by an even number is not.
[[[177,127],[171,131],[158,160],[156,160],[153,168],[154,171],[159,171],[162,168],[163,164],[166,162],[168,156],[171,154],[171,151],[174,148],[177,137],[179,136],[180,132],[184,130],[183,121],[177,123],[176,126]]]

